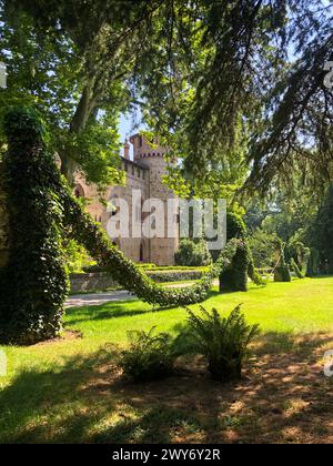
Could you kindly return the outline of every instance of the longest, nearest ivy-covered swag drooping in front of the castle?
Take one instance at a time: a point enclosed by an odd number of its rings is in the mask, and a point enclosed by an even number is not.
[[[221,271],[230,266],[236,253],[240,241],[232,240],[215,264],[195,285],[174,290],[162,288],[111,243],[105,232],[93,222],[89,214],[83,212],[80,203],[65,185],[65,181],[57,173],[54,174],[57,175],[57,191],[61,195],[64,207],[64,225],[71,230],[72,236],[118,283],[150,304],[182,306],[204,301],[213,280],[220,275]]]

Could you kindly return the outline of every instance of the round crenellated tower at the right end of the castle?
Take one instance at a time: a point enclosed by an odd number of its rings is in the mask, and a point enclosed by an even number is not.
[[[168,149],[161,146],[158,140],[151,145],[142,134],[133,135],[130,142],[133,144],[134,162],[149,169],[149,197],[164,203],[164,235],[149,241],[150,262],[159,265],[174,264],[174,253],[179,246],[178,202],[173,191],[162,182],[162,176],[167,174],[164,155]],[[169,237],[172,235],[168,232],[170,223],[173,231],[176,231],[173,235],[176,237]]]

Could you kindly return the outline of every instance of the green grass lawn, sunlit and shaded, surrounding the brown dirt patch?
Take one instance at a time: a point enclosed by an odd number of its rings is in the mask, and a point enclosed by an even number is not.
[[[274,352],[292,352],[297,336],[320,332],[333,336],[333,277],[251,286],[249,293],[220,295],[212,290],[204,306],[215,306],[222,313],[229,313],[240,303],[243,303],[248,321],[260,324],[262,342],[274,336],[271,341]],[[108,391],[104,374],[110,361],[100,352],[105,343],[125,344],[127,331],[149,330],[154,325],[159,331],[175,334],[185,318],[182,308],[154,310],[140,301],[110,303],[68,312],[65,330],[79,331],[82,337],[73,335],[28,348],[2,347],[8,355],[9,371],[8,377],[0,377],[0,443],[174,440],[171,427],[174,428],[176,423],[194,423],[194,427],[188,428],[190,432],[192,428],[195,433],[203,429],[216,433],[214,426],[202,427],[195,413],[191,413],[190,422],[188,414],[182,414],[180,419],[176,413],[182,411],[173,411],[170,406],[157,414],[154,409],[160,406],[157,401],[151,401],[149,406],[139,403],[138,407],[131,399],[141,388],[125,387],[124,392],[129,389],[129,393],[121,395],[123,391],[117,388],[119,382],[115,385],[110,382],[112,389]],[[102,388],[91,388],[97,381]],[[173,389],[171,386],[170,393]],[[174,394],[176,399],[183,395]],[[152,418],[144,417],[148,413]],[[128,419],[124,425],[123,416]],[[135,421],[142,416],[141,423]],[[165,423],[170,425],[169,436],[159,432],[155,438],[154,423],[163,423],[163,416],[168,417]],[[128,423],[133,422],[137,427],[129,434]],[[196,427],[195,423],[199,423]],[[140,428],[151,428],[151,433],[140,436]],[[214,435],[211,434],[210,439],[220,440]],[[183,437],[191,442],[191,436]]]

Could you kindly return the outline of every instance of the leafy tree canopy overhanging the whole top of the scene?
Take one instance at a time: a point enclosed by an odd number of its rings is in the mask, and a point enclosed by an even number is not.
[[[117,181],[117,119],[140,108],[194,186],[246,181],[266,193],[295,174],[311,189],[332,179],[326,1],[1,4],[1,99],[24,95],[43,110],[68,176],[80,166],[91,181]]]

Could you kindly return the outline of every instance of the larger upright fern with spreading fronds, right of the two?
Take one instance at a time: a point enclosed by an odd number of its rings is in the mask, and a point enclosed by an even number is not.
[[[228,318],[222,318],[213,308],[201,307],[203,316],[189,312],[190,331],[198,353],[208,358],[212,377],[220,382],[239,379],[249,357],[249,344],[259,334],[259,326],[249,326],[241,306],[235,307]]]

